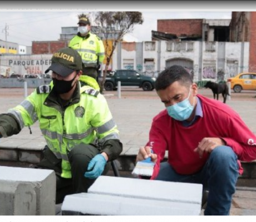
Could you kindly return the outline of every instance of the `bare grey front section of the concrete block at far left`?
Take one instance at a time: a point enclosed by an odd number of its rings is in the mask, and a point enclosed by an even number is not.
[[[0,181],[0,215],[36,215],[36,192],[31,184]]]

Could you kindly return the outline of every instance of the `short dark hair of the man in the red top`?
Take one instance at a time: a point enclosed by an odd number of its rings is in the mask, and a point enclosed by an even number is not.
[[[155,89],[156,91],[164,90],[176,81],[185,87],[189,87],[193,83],[193,79],[184,67],[173,65],[159,74],[155,82]]]

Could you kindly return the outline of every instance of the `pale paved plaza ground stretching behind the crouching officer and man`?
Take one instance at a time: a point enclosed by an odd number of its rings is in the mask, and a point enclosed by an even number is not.
[[[29,90],[31,92],[32,90]],[[147,142],[151,119],[164,109],[155,90],[143,92],[141,89],[123,88],[121,99],[117,92],[104,92],[109,103],[112,115],[119,127],[120,138],[124,144],[122,155],[136,154],[140,146]],[[211,90],[199,89],[199,93],[212,98]],[[256,98],[255,92],[232,93],[231,100],[227,101],[236,110],[248,127],[256,133]],[[222,100],[222,96],[220,96]],[[7,112],[23,100],[23,89],[0,89],[0,113]],[[27,149],[42,148],[45,144],[38,123],[10,138],[0,140],[1,147],[19,147]],[[234,195],[232,215],[256,215],[256,189],[239,188]]]

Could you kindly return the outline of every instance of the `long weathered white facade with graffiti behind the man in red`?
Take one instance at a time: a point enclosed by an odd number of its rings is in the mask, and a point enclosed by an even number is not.
[[[171,50],[168,48],[169,43],[173,44]],[[113,69],[119,69],[119,62],[122,65],[121,68],[132,68],[124,67],[123,63],[124,60],[133,59],[134,69],[139,69],[145,74],[151,75],[163,71],[166,64],[170,64],[170,61],[173,60],[174,62],[177,61],[178,64],[189,64],[188,71],[193,74],[196,82],[208,79],[227,79],[239,72],[246,72],[249,68],[249,42],[156,41],[154,42],[155,48],[151,47],[152,50],[146,50],[149,49],[149,46],[146,46],[147,42],[136,44],[136,50],[131,45],[122,47],[121,51],[120,48],[117,48]],[[141,47],[138,47],[141,44],[142,52]],[[181,45],[182,47],[180,47]],[[146,59],[154,60],[150,64],[145,63]],[[149,64],[149,67],[147,67],[147,64]]]

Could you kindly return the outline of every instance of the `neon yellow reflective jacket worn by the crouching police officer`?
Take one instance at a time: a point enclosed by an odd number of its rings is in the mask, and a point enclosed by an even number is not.
[[[81,77],[78,90],[66,109],[57,103],[50,85],[41,85],[17,107],[8,110],[21,128],[37,120],[48,147],[62,159],[63,178],[71,178],[67,152],[75,145],[102,145],[109,139],[119,139],[119,131],[112,118],[105,97],[85,84]]]

